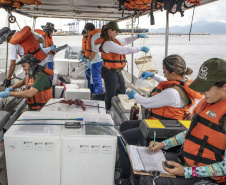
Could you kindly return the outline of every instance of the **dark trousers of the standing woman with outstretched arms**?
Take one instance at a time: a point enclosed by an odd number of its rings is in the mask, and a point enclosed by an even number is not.
[[[101,77],[104,79],[105,84],[105,106],[106,110],[111,108],[111,99],[118,94],[125,94],[125,80],[122,73],[116,73],[115,71],[106,67],[101,68]]]

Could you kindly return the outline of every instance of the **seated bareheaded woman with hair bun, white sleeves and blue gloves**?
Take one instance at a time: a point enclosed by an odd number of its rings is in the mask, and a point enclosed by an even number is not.
[[[202,96],[191,90],[188,85],[190,81],[186,75],[192,74],[193,70],[186,67],[184,59],[179,55],[170,55],[163,59],[162,77],[152,72],[143,72],[140,76],[143,80],[148,77],[159,82],[151,97],[138,95],[134,90],[126,92],[129,99],[135,100],[144,108],[149,109],[149,119],[176,119],[186,120],[190,113],[190,107],[195,104],[195,99]],[[141,137],[139,129],[141,120],[124,121],[120,125],[120,131],[129,144],[136,145]],[[119,146],[119,161],[122,166],[122,173],[116,184],[128,182],[130,177],[130,162],[121,142]]]

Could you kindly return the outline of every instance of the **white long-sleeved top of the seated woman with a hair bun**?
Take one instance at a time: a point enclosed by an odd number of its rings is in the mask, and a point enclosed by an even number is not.
[[[153,77],[157,82],[167,81],[166,78],[155,74]],[[136,101],[145,108],[160,108],[165,106],[183,108],[184,103],[181,100],[180,94],[176,89],[167,88],[156,94],[155,96],[145,98],[136,94]]]

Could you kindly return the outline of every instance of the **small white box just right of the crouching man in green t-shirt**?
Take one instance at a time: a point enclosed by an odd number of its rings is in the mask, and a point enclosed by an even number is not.
[[[58,75],[68,75],[68,59],[54,59],[54,72]]]

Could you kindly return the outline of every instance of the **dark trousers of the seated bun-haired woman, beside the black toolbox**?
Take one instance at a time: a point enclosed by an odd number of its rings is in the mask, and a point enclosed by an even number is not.
[[[136,145],[141,137],[141,131],[139,129],[139,124],[141,120],[130,120],[124,121],[120,125],[120,131],[124,138],[130,145]],[[128,179],[130,177],[130,161],[125,148],[123,147],[121,141],[118,139],[118,149],[119,149],[119,163],[122,169],[120,174],[121,178]]]

